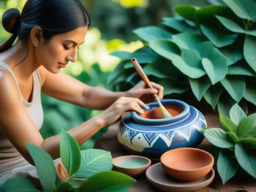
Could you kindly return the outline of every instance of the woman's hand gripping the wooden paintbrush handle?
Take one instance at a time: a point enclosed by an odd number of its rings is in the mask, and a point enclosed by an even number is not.
[[[153,86],[153,89],[146,88],[145,82],[142,81],[134,86],[132,89],[128,90],[126,92],[127,96],[138,98],[144,103],[150,103],[152,101],[155,101],[155,98],[153,96],[154,93],[157,93],[159,99],[163,99],[164,87],[154,82],[151,82],[151,84]]]

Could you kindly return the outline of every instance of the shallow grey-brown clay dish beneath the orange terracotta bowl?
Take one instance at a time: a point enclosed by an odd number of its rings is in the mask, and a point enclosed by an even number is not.
[[[152,165],[146,170],[146,177],[158,189],[168,192],[191,192],[208,186],[214,179],[215,172],[211,169],[203,178],[194,182],[184,182],[168,175],[161,163]]]

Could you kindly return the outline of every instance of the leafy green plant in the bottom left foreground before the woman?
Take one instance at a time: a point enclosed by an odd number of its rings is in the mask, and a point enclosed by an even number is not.
[[[61,179],[51,156],[40,147],[27,143],[43,191],[90,191],[110,192],[128,191],[136,180],[120,172],[112,171],[112,156],[104,150],[88,149],[80,151],[77,141],[64,129],[60,138],[60,156],[67,174]],[[78,182],[74,178],[83,178]],[[27,178],[8,179],[0,191],[34,191],[38,190]]]

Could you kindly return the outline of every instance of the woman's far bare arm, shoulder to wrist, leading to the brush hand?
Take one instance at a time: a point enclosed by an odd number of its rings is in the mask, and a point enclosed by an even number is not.
[[[43,93],[88,109],[105,110],[118,98],[127,96],[125,92],[113,92],[101,87],[91,87],[63,71],[53,74],[41,66],[39,72]]]

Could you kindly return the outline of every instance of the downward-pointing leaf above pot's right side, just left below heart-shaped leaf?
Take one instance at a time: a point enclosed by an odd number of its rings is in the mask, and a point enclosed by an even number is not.
[[[211,86],[211,81],[207,76],[203,76],[199,79],[188,78],[190,87],[192,92],[198,101],[200,101],[207,91],[207,89]]]

